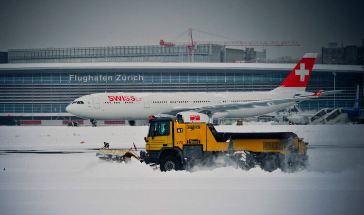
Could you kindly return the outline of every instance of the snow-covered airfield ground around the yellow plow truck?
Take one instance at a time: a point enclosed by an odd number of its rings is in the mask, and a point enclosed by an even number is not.
[[[147,126],[1,126],[1,214],[362,214],[363,125],[216,128],[295,132],[312,147],[310,166],[296,173],[232,167],[160,172],[136,160],[105,162],[88,150],[103,141],[111,148],[132,142],[143,148]]]

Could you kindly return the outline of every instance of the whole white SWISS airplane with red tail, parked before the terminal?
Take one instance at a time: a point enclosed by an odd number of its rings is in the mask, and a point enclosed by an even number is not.
[[[75,99],[66,110],[94,120],[148,120],[179,115],[190,122],[260,116],[340,91],[305,92],[317,53],[307,53],[277,88],[267,92],[104,92]]]

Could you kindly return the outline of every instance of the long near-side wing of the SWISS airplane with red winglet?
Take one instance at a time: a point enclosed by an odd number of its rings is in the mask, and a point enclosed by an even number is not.
[[[331,94],[341,92],[341,91],[329,91]],[[209,105],[209,106],[195,106],[195,107],[170,107],[162,110],[159,114],[168,114],[175,116],[177,113],[182,111],[196,111],[201,113],[217,113],[217,112],[225,112],[227,110],[241,109],[241,108],[254,108],[254,107],[262,107],[262,106],[271,106],[271,105],[279,105],[283,103],[290,102],[302,102],[307,101],[313,98],[321,97],[324,92],[314,93],[309,95],[300,95],[298,97],[292,98],[284,98],[284,99],[271,99],[271,100],[262,100],[262,101],[252,101],[252,102],[239,102],[239,103],[227,103],[227,104],[218,104],[218,105]],[[324,95],[328,95],[325,93]]]

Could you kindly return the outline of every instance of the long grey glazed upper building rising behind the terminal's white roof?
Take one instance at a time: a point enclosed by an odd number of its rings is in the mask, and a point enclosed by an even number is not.
[[[224,62],[224,46],[198,46],[194,62]],[[108,46],[8,50],[9,63],[188,62],[187,46]]]

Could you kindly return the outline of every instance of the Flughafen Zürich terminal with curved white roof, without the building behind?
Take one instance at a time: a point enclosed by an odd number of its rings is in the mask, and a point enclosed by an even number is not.
[[[248,92],[278,87],[295,64],[267,63],[8,63],[0,64],[0,115],[19,120],[72,120],[66,106],[97,92]],[[333,74],[334,73],[334,74]],[[363,104],[363,68],[314,65],[306,91],[344,90],[305,101],[306,110]],[[335,104],[336,103],[336,104]]]

